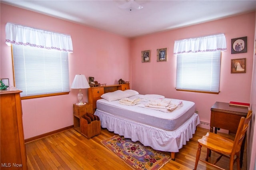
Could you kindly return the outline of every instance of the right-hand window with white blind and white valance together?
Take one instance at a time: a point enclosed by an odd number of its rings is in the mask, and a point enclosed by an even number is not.
[[[226,51],[223,33],[175,40],[176,89],[219,93],[221,51]]]

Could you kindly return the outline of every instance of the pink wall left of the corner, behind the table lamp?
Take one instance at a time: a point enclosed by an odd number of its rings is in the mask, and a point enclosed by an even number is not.
[[[5,25],[13,22],[33,28],[70,34],[74,53],[69,55],[70,86],[76,74],[95,77],[99,83],[117,84],[120,78],[131,81],[130,40],[115,34],[96,30],[42,15],[29,10],[1,5],[1,59],[0,77],[14,84],[11,48],[5,43]],[[30,138],[73,125],[73,103],[78,90],[69,95],[22,100],[24,136]],[[83,89],[84,101],[88,101]]]

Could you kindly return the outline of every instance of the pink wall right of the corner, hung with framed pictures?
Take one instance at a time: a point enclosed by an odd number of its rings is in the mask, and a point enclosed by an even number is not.
[[[239,21],[239,25],[238,22]],[[131,42],[132,88],[141,94],[161,94],[168,98],[194,101],[200,120],[210,122],[210,108],[216,102],[250,102],[254,49],[255,13],[206,22],[167,32],[134,38]],[[220,93],[176,91],[174,40],[224,33],[227,51],[222,52]],[[248,52],[231,54],[231,39],[247,36]],[[156,50],[167,47],[167,62],[156,62]],[[141,62],[141,51],[151,50],[151,62]],[[246,58],[246,73],[231,74],[230,59]]]

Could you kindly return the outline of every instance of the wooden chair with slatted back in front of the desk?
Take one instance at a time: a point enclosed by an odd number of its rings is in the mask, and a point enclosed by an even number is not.
[[[240,149],[241,149],[244,136],[246,135],[246,131],[248,129],[248,123],[251,120],[251,118],[252,118],[251,110],[248,111],[246,118],[241,117],[234,140],[231,140],[229,138],[226,138],[224,136],[221,136],[219,134],[215,134],[212,132],[207,132],[205,136],[198,139],[198,150],[196,152],[196,162],[195,162],[194,170],[196,170],[199,160],[206,164],[210,164],[211,166],[214,166],[216,168],[220,168],[215,164],[220,160],[222,156],[230,158],[230,162],[229,162],[230,170],[233,170],[233,164],[235,162],[237,164],[237,169],[240,170]],[[205,159],[206,161],[200,159],[202,146],[207,148],[207,155]],[[214,163],[208,162],[210,151],[220,154],[220,157],[217,158]],[[235,158],[235,155],[236,155],[236,158]],[[223,168],[220,168],[220,169],[224,170]]]

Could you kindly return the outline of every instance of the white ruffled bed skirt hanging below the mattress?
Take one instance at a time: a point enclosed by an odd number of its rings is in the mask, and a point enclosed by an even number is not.
[[[100,117],[102,128],[130,138],[134,142],[140,141],[144,146],[151,146],[155,150],[167,152],[178,152],[186,144],[186,141],[193,137],[196,126],[200,124],[199,116],[196,113],[172,131],[143,125],[98,109],[94,114]]]

